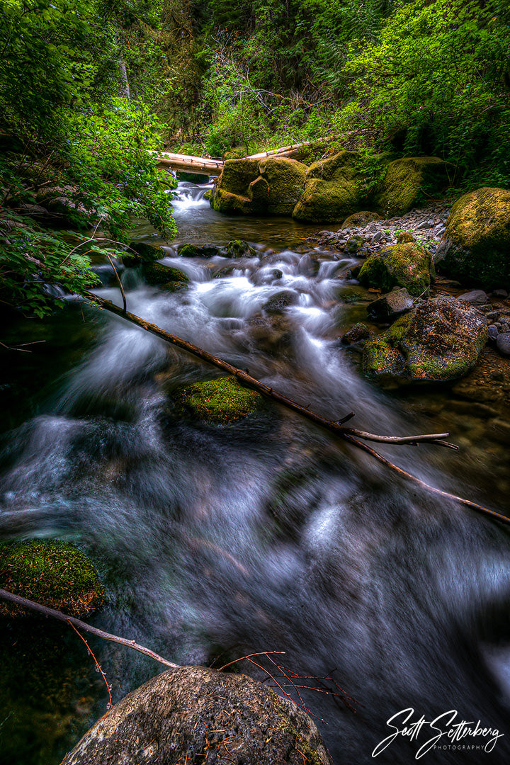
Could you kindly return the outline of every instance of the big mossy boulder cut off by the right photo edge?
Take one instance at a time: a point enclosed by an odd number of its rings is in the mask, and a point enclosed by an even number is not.
[[[510,191],[484,187],[460,197],[435,262],[469,285],[510,287]]]

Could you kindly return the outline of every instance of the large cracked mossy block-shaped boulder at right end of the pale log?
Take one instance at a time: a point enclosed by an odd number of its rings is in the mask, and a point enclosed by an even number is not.
[[[307,166],[295,159],[232,159],[216,179],[211,205],[222,213],[291,215]]]

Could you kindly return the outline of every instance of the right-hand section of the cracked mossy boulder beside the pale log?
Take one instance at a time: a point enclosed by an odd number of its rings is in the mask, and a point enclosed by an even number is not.
[[[304,190],[307,165],[286,157],[268,157],[258,164],[268,184],[268,214],[292,215]]]

